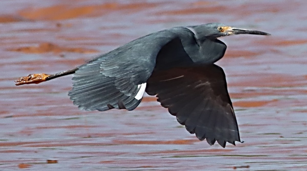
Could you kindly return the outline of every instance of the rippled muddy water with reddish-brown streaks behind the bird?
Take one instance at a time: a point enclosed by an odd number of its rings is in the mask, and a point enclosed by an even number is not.
[[[0,1],[0,170],[306,170],[307,1]],[[220,22],[270,32],[221,38],[241,139],[209,146],[154,97],[132,111],[80,111],[73,68],[141,35]],[[48,159],[57,160],[47,164]]]

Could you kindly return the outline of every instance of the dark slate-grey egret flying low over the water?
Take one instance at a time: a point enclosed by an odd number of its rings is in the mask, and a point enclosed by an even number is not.
[[[73,74],[68,92],[80,110],[134,110],[144,93],[199,140],[225,148],[240,140],[223,69],[214,63],[226,51],[218,38],[227,35],[270,35],[221,23],[168,28],[145,35],[74,69],[56,74],[29,74],[16,85],[38,84]]]

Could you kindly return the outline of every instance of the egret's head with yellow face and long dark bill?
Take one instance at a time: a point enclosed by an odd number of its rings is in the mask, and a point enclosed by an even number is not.
[[[221,23],[208,23],[193,27],[199,37],[218,38],[227,35],[251,34],[251,35],[270,35],[266,32],[247,30],[226,26]]]

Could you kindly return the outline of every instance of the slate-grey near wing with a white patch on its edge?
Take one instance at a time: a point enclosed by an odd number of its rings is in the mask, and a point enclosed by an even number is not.
[[[163,30],[81,65],[72,78],[72,90],[68,93],[70,99],[83,110],[133,110],[142,100],[159,51],[166,44],[178,40],[182,33],[193,37],[187,28]]]

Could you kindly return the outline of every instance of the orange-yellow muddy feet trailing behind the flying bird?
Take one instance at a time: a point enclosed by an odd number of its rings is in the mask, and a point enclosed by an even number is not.
[[[22,84],[38,84],[41,82],[46,81],[46,78],[50,76],[48,74],[29,74],[28,76],[24,76],[16,80],[15,85],[22,85]]]

